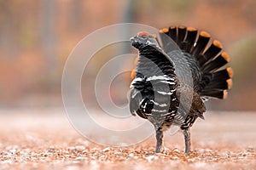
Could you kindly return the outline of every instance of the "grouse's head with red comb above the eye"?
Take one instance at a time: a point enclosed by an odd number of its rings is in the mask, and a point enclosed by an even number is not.
[[[131,45],[138,50],[143,49],[147,46],[154,48],[160,48],[159,43],[156,40],[156,37],[148,34],[146,31],[138,32],[135,37],[131,37]]]

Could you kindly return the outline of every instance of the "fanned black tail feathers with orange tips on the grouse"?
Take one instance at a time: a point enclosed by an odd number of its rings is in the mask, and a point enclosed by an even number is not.
[[[233,71],[230,67],[221,68],[230,62],[228,54],[222,52],[223,46],[217,40],[211,40],[206,31],[198,31],[192,27],[171,26],[160,30],[162,48],[166,52],[173,49],[168,40],[171,37],[183,52],[195,57],[202,72],[199,93],[201,97],[209,96],[218,99],[227,97],[227,90],[232,87]]]

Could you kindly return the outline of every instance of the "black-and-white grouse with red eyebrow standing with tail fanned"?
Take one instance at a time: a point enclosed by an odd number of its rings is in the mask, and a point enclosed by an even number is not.
[[[163,131],[176,125],[189,154],[189,127],[198,117],[204,119],[204,102],[225,99],[232,86],[233,71],[223,68],[230,62],[228,54],[206,31],[184,26],[161,29],[159,37],[139,32],[131,45],[139,52],[131,73],[131,114],[153,123],[155,152],[161,150]]]

